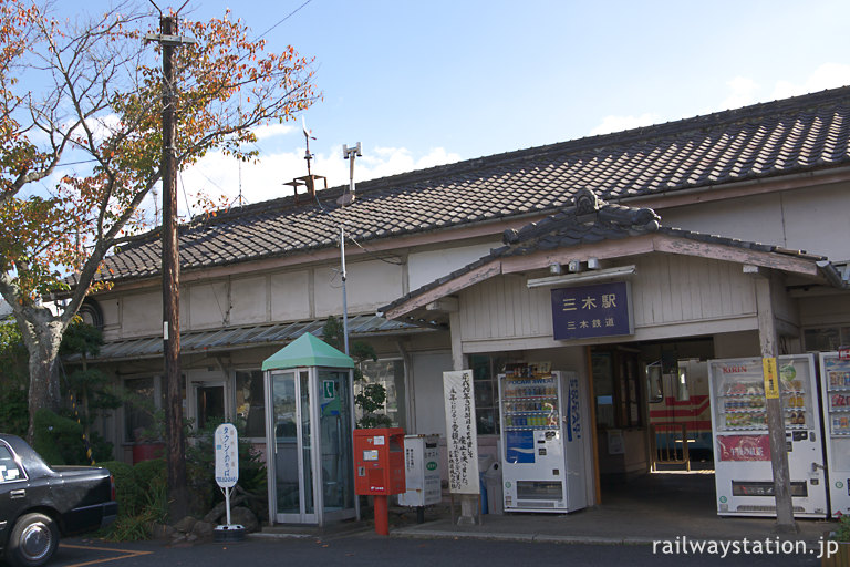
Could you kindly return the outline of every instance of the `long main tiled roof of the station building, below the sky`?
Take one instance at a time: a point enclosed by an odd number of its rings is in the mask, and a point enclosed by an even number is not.
[[[301,204],[249,205],[180,228],[184,270],[527,214],[550,214],[590,187],[609,202],[850,165],[850,87],[666,124],[521,150],[357,184]],[[102,277],[159,271],[156,231],[106,260]],[[111,271],[110,271],[111,270]]]

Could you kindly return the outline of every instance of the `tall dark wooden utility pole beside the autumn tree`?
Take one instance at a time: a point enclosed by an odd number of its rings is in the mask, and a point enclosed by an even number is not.
[[[177,85],[175,48],[194,43],[177,35],[177,17],[162,16],[159,35],[145,39],[163,47],[163,354],[165,358],[165,437],[168,467],[168,515],[173,522],[188,512],[186,450],[183,433],[180,372],[180,261],[177,240]]]

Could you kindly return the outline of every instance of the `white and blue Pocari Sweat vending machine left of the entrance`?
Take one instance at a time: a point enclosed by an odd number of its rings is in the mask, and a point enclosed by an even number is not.
[[[505,512],[588,506],[585,462],[592,424],[576,372],[499,377]]]

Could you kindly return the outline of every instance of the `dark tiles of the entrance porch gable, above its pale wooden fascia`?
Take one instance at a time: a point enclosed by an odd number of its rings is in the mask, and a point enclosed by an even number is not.
[[[577,196],[577,200],[582,198],[582,194],[590,194],[593,196],[592,192],[582,189]],[[810,255],[801,250],[788,250],[773,245],[661,226],[661,217],[659,217],[651,208],[634,208],[597,200],[594,210],[592,212],[581,210],[580,206],[564,207],[554,215],[550,215],[537,223],[530,223],[519,230],[505,230],[502,235],[505,246],[495,248],[490,250],[490,254],[483,256],[474,262],[431,281],[404,297],[396,299],[392,303],[381,307],[380,311],[391,311],[392,309],[406,303],[411,299],[422,296],[443,284],[457,279],[465,274],[469,274],[477,268],[486,266],[500,258],[527,256],[539,251],[595,244],[603,240],[620,240],[622,238],[651,233],[701,243],[745,248],[760,252],[782,254],[828,264],[826,261],[827,258],[823,256]],[[826,266],[826,268],[832,269],[831,265]],[[840,277],[838,279],[840,279]],[[846,288],[842,284],[839,285],[839,287]]]

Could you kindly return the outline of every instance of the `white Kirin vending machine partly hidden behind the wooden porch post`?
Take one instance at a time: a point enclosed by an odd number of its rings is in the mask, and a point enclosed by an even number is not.
[[[779,396],[797,517],[827,512],[815,357],[777,358]],[[763,359],[708,362],[717,513],[776,516]]]

